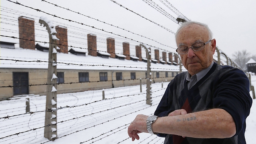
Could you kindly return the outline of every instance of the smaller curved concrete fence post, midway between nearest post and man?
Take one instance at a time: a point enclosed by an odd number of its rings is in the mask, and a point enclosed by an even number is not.
[[[152,99],[151,99],[151,66],[150,66],[150,63],[151,63],[151,50],[150,48],[146,48],[146,46],[144,46],[143,44],[140,44],[140,46],[142,46],[143,48],[145,48],[146,50],[146,54],[147,54],[147,96],[146,96],[146,104],[149,104],[150,106],[152,106]]]

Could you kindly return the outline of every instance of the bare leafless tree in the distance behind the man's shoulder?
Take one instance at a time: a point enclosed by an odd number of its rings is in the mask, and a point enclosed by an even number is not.
[[[251,54],[249,52],[246,52],[246,50],[238,51],[233,54],[234,61],[240,66],[241,70],[244,72],[247,71],[246,62],[248,62],[248,60],[250,60],[250,58],[252,57],[250,55]]]

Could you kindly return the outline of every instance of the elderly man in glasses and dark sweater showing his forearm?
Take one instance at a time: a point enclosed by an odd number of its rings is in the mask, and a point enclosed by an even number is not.
[[[183,66],[154,116],[138,115],[128,127],[132,141],[149,132],[164,144],[246,144],[252,98],[241,70],[213,62],[216,40],[206,24],[185,22],[175,35]]]

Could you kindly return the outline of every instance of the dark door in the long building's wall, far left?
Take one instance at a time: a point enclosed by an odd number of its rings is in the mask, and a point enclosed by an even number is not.
[[[28,72],[13,72],[13,94],[28,94]]]

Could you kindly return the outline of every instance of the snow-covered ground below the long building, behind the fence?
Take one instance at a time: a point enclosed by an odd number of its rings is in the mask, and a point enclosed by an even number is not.
[[[256,86],[256,76],[251,76]],[[152,84],[152,106],[146,104],[146,85],[127,86],[102,90],[58,94],[57,111],[58,139],[44,138],[44,115],[46,96],[30,96],[30,111],[26,113],[26,97],[0,102],[1,144],[162,144],[164,138],[140,134],[134,142],[128,138],[127,127],[137,114],[154,113],[168,82]],[[252,92],[250,92],[252,96]],[[253,100],[247,118],[247,144],[256,144],[256,99]],[[19,115],[22,114],[22,115]],[[18,116],[14,116],[18,115]],[[8,118],[6,117],[8,116]],[[9,117],[10,116],[10,117]],[[5,119],[3,117],[6,117]],[[27,131],[27,132],[26,132]]]

